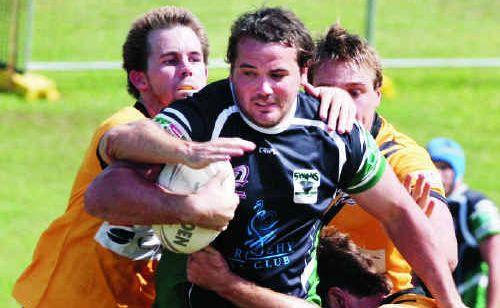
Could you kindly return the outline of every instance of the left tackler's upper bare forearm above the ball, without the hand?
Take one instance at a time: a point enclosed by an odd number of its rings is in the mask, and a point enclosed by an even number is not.
[[[188,143],[168,134],[151,120],[110,129],[101,139],[99,152],[108,160],[141,163],[183,163]]]

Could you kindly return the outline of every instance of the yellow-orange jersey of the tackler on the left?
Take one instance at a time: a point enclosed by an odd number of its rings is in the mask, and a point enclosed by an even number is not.
[[[94,133],[66,212],[41,235],[31,264],[14,286],[13,296],[22,306],[152,305],[158,250],[139,246],[151,228],[110,225],[87,214],[83,203],[88,185],[105,167],[97,153],[101,137],[114,126],[144,119],[141,107],[119,110]]]

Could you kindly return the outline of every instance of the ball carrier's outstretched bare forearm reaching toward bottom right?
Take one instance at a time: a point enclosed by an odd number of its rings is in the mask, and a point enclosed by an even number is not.
[[[392,223],[384,223],[398,250],[423,280],[439,307],[455,307],[461,302],[445,255],[431,232],[431,226],[422,211],[402,196]]]

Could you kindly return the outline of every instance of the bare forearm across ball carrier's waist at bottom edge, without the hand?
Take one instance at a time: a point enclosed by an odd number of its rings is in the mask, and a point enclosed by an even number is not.
[[[275,292],[273,290],[257,286],[256,284],[232,275],[231,283],[227,288],[217,293],[238,307],[318,307],[304,299]]]

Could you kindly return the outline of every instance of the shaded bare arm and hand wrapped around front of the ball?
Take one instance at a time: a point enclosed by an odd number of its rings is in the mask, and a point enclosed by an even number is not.
[[[220,230],[233,218],[239,199],[221,192],[220,179],[215,177],[197,193],[176,194],[156,184],[161,167],[112,163],[85,192],[85,209],[114,224],[190,223]],[[217,200],[217,206],[206,200]]]

